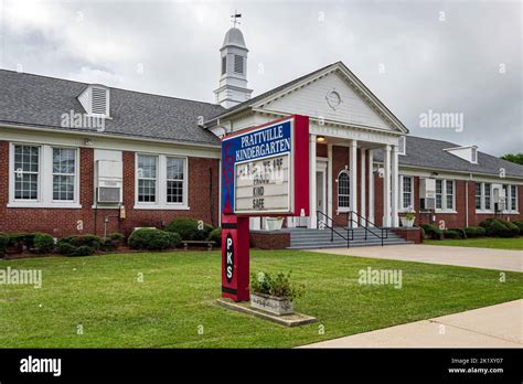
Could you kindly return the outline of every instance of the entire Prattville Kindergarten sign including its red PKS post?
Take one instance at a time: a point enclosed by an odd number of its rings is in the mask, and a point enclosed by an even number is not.
[[[249,217],[309,215],[309,118],[222,140],[222,297],[249,299]]]

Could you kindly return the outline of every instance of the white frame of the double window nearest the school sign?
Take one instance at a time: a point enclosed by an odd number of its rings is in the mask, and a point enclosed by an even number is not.
[[[157,201],[138,201],[138,157],[154,156],[157,163]],[[167,202],[167,158],[177,158],[183,160],[183,202]],[[190,210],[189,206],[189,158],[179,154],[136,152],[135,154],[135,210]]]

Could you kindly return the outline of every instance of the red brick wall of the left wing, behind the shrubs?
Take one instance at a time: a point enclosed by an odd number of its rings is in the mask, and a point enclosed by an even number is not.
[[[56,237],[88,233],[103,235],[106,216],[109,218],[107,232],[122,232],[126,235],[136,226],[160,226],[181,216],[203,220],[213,226],[217,225],[217,159],[189,158],[190,210],[135,210],[135,152],[125,151],[122,153],[124,205],[127,218],[120,221],[117,217],[118,210],[93,209],[95,199],[94,150],[92,148],[79,150],[82,209],[8,209],[9,148],[9,142],[0,141],[0,232],[45,232]]]

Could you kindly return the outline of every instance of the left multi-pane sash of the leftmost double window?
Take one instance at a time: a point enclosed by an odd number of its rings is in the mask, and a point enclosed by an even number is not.
[[[14,146],[14,199],[38,200],[40,147]]]

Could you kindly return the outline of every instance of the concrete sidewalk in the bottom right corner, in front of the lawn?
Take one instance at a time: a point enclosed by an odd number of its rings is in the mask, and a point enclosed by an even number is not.
[[[523,300],[300,348],[523,348]]]

